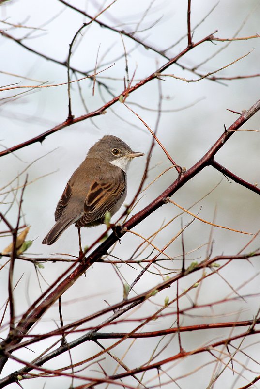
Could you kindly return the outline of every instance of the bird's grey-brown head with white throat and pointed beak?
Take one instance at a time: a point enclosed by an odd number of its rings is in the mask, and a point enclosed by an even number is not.
[[[114,166],[120,167],[126,171],[129,162],[135,158],[144,155],[133,151],[122,139],[113,135],[105,135],[96,142],[89,150],[89,158],[102,158]]]

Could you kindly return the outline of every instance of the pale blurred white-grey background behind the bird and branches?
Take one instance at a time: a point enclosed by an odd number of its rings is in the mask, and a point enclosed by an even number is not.
[[[131,3],[131,4],[130,4]],[[89,15],[96,16],[109,3],[107,1],[71,1],[70,4],[84,10]],[[207,17],[206,17],[207,16]],[[41,83],[59,84],[67,81],[67,68],[54,63],[49,59],[60,62],[67,60],[69,44],[76,31],[83,23],[90,19],[79,12],[67,7],[60,1],[6,1],[0,6],[0,29],[11,35],[10,39],[4,35],[0,40],[0,85],[1,87],[15,84],[39,85]],[[98,70],[105,69],[96,80],[105,86],[95,83],[94,96],[93,81],[90,79],[73,83],[71,85],[72,113],[75,117],[100,108],[105,102],[114,96],[118,96],[124,90],[125,56],[127,52],[128,71],[130,79],[134,77],[133,84],[142,80],[156,71],[167,62],[167,59],[159,54],[165,52],[169,58],[181,52],[187,45],[187,1],[135,1],[118,0],[104,14],[98,17],[111,27],[126,32],[135,32],[135,36],[142,42],[152,46],[156,51],[147,49],[134,40],[100,27],[93,22],[82,30],[72,49],[71,67],[82,72],[94,73],[96,61]],[[193,34],[193,42],[198,42],[205,36],[214,33],[219,38],[247,37],[259,34],[260,7],[259,1],[255,0],[220,0],[219,2],[194,0],[191,3],[191,27],[199,24]],[[26,26],[25,27],[19,27]],[[215,32],[217,30],[217,32]],[[184,39],[180,40],[181,37]],[[179,41],[180,40],[180,41]],[[179,41],[179,42],[178,42]],[[28,48],[19,44],[22,42]],[[177,43],[176,43],[177,42]],[[197,68],[199,74],[207,74],[222,68],[236,59],[249,53],[245,58],[235,64],[214,74],[215,77],[232,78],[236,76],[249,76],[260,73],[260,43],[259,39],[248,39],[233,42],[205,42],[198,48],[192,49],[178,61],[178,65],[171,65],[166,74],[174,74],[187,80],[196,79],[194,73],[187,69]],[[169,49],[168,49],[169,48]],[[167,49],[167,50],[166,50]],[[166,50],[166,51],[165,51]],[[98,56],[98,57],[97,57]],[[46,59],[47,57],[48,59]],[[72,75],[72,80],[83,77],[80,72]],[[159,87],[160,82],[160,87]],[[79,84],[79,85],[78,85]],[[79,89],[80,88],[80,89]],[[29,90],[30,89],[30,90]],[[4,150],[25,142],[66,120],[68,115],[67,85],[42,89],[15,89],[2,92],[0,95],[0,148]],[[131,93],[126,103],[138,113],[142,119],[155,129],[158,117],[158,104],[162,93],[161,117],[158,125],[157,136],[168,150],[171,157],[179,165],[190,168],[205,152],[214,144],[224,130],[224,124],[228,127],[238,117],[226,109],[241,112],[248,109],[259,99],[260,80],[244,78],[235,80],[201,80],[199,82],[185,82],[172,77],[162,77],[162,81],[153,80]],[[110,92],[109,92],[110,91]],[[83,103],[84,102],[84,103]],[[251,118],[242,129],[260,130],[259,113]],[[52,246],[41,244],[46,233],[54,224],[54,211],[62,194],[67,180],[82,162],[90,146],[103,135],[112,134],[122,138],[129,146],[137,151],[147,153],[152,142],[152,136],[140,120],[131,113],[121,102],[107,109],[105,114],[84,120],[76,125],[66,127],[40,143],[21,148],[12,154],[0,158],[0,187],[1,209],[7,213],[7,218],[12,225],[17,221],[19,201],[18,191],[15,197],[15,188],[23,185],[25,175],[28,174],[28,185],[25,189],[22,204],[23,221],[31,225],[28,238],[33,244],[26,253],[32,254],[32,258],[48,257],[54,254],[78,255],[77,230],[69,227],[61,238]],[[239,131],[234,134],[227,144],[217,153],[215,159],[241,178],[257,183],[260,181],[260,134],[254,131]],[[33,163],[32,163],[33,162]],[[156,145],[153,149],[150,163],[149,176],[146,185],[153,181],[161,172],[170,166],[166,155]],[[132,162],[128,174],[128,195],[126,204],[129,204],[135,195],[145,167],[145,158]],[[25,169],[26,172],[22,173]],[[14,178],[19,174],[19,177]],[[177,178],[174,169],[169,170],[151,185],[142,195],[133,213],[141,210],[150,203],[157,195],[162,193],[170,183]],[[12,181],[13,180],[13,181]],[[11,182],[12,181],[12,182]],[[213,192],[200,200],[219,183]],[[6,194],[8,191],[11,191]],[[228,180],[222,174],[208,167],[190,180],[174,196],[173,200],[183,206],[190,207],[198,202],[192,212],[199,217],[213,221],[216,224],[235,228],[237,230],[256,233],[260,229],[260,199],[259,196],[245,187]],[[7,204],[8,203],[8,204]],[[122,211],[121,211],[122,213]],[[179,214],[180,210],[172,204],[165,205],[155,211],[134,231],[148,238],[162,223]],[[114,216],[115,221],[120,212]],[[187,224],[191,216],[182,216],[183,224]],[[163,247],[181,228],[181,219],[176,219],[162,233],[158,234],[153,243],[157,247]],[[3,222],[1,230],[6,229]],[[90,245],[104,232],[105,227],[83,229],[83,245]],[[211,235],[212,233],[212,235]],[[212,256],[235,255],[252,238],[251,235],[238,234],[226,229],[215,227],[211,231],[209,225],[195,220],[184,232],[184,245],[187,266],[191,261],[205,259],[207,243],[214,241]],[[4,236],[0,241],[0,250],[11,242],[10,236]],[[113,254],[129,259],[134,249],[142,240],[133,234],[126,234],[122,238],[122,244],[116,245]],[[246,252],[256,250],[260,246],[257,237]],[[171,271],[180,269],[182,244],[181,239],[173,242],[166,253],[174,259],[167,265]],[[151,254],[148,247],[142,254]],[[154,254],[153,254],[154,255]],[[60,255],[59,255],[60,256]],[[229,303],[220,304],[212,309],[201,308],[191,315],[182,315],[182,325],[201,323],[213,323],[221,321],[236,321],[252,319],[259,308],[258,293],[260,292],[259,259],[232,262],[218,274],[209,277],[201,283],[198,290],[191,291],[190,299],[198,298],[199,304],[234,297]],[[1,264],[6,258],[2,257]],[[170,261],[169,261],[170,262]],[[38,280],[32,263],[16,260],[14,282],[23,277],[15,289],[16,315],[19,318],[25,309],[39,296],[41,289],[46,289],[47,284],[55,281],[62,271],[68,266],[66,263],[44,263],[44,269],[40,269],[42,278]],[[162,269],[161,269],[162,270]],[[140,267],[131,268],[127,265],[120,267],[124,282],[131,284],[138,276]],[[135,287],[135,292],[144,292],[156,283],[162,282],[158,269],[153,269],[154,274],[146,273]],[[167,270],[163,272],[165,275]],[[8,268],[0,272],[0,295],[4,304],[8,297]],[[201,276],[201,273],[200,273]],[[184,291],[199,278],[198,274],[185,277],[179,285]],[[122,282],[113,269],[113,266],[103,263],[95,263],[88,270],[86,277],[80,277],[75,285],[62,296],[62,311],[64,323],[84,317],[92,311],[107,307],[104,296],[109,304],[115,304],[122,299]],[[133,313],[136,317],[145,317],[155,312],[156,304],[163,304],[166,295],[174,298],[176,288],[163,291],[154,297],[153,303],[146,302],[139,310]],[[131,296],[134,295],[132,292]],[[248,298],[239,296],[248,295]],[[255,295],[255,297],[253,296]],[[153,306],[154,304],[154,306]],[[187,298],[182,301],[182,308],[190,305]],[[169,308],[170,309],[170,308]],[[165,317],[149,323],[144,330],[154,331],[159,328],[168,328],[174,324],[176,317]],[[58,321],[58,322],[57,322]],[[43,317],[41,322],[32,330],[41,333],[57,327],[59,312],[55,304]],[[4,323],[8,323],[8,315]],[[98,324],[93,321],[91,325]],[[88,324],[89,325],[89,324]],[[108,330],[127,331],[135,324],[121,324],[111,326]],[[174,324],[176,325],[176,324]],[[6,336],[6,326],[3,324],[1,337]],[[193,350],[201,344],[230,334],[227,330],[211,330],[206,332],[191,332],[183,336],[183,347],[186,351]],[[237,333],[237,330],[233,330]],[[74,339],[78,335],[71,335]],[[248,381],[259,374],[259,345],[258,337],[245,340],[245,355],[240,354],[239,362],[234,367],[236,374],[228,367],[214,384],[214,388],[237,388],[245,385]],[[106,347],[110,341],[103,341]],[[134,368],[145,363],[158,343],[157,338],[138,340],[124,362],[129,368]],[[252,343],[252,344],[251,344]],[[256,343],[256,344],[253,344]],[[113,351],[121,357],[130,340],[125,341]],[[37,355],[46,348],[46,345],[34,344],[33,351]],[[99,347],[92,342],[84,343],[76,350],[72,350],[73,361],[81,360],[98,352]],[[159,358],[166,358],[178,353],[178,340],[174,338]],[[218,350],[215,350],[217,355]],[[31,361],[35,356],[31,351],[20,350],[17,356]],[[250,354],[250,357],[248,357]],[[144,359],[143,359],[144,358]],[[255,358],[254,362],[252,359]],[[210,362],[212,361],[212,362]],[[165,374],[161,382],[165,388],[207,388],[211,378],[217,374],[218,369],[213,362],[214,358],[206,353],[179,360],[176,364],[164,366],[168,374],[177,379],[176,384],[167,383],[169,377]],[[58,368],[69,365],[68,355],[47,363],[45,367]],[[103,367],[109,374],[113,373],[116,362],[111,358],[103,361]],[[203,368],[199,368],[203,366]],[[9,362],[4,374],[11,373],[20,368],[15,362]],[[214,371],[216,369],[216,371]],[[94,370],[94,368],[93,368]],[[192,372],[192,373],[191,373]],[[239,375],[239,374],[240,375]],[[87,375],[95,376],[94,372]],[[147,387],[159,387],[156,372],[146,373],[144,383]],[[180,378],[181,376],[183,376]],[[151,381],[149,381],[151,380]],[[35,380],[22,382],[24,388],[35,388]],[[46,384],[45,384],[46,382]],[[81,381],[80,381],[81,382]],[[137,387],[138,383],[129,379],[129,385]],[[150,384],[148,384],[150,382]],[[194,384],[196,382],[196,385]],[[39,387],[61,388],[70,385],[69,378],[42,378],[38,381]],[[149,386],[154,385],[154,386]],[[173,386],[175,385],[175,386]],[[16,384],[10,385],[15,388]],[[101,385],[100,387],[103,388]],[[113,386],[111,386],[112,388]],[[260,388],[260,383],[256,383]],[[105,388],[105,385],[104,385]],[[141,386],[140,386],[141,388]]]

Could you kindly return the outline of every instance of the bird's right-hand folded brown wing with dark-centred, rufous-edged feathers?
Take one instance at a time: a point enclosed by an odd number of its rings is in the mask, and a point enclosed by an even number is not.
[[[121,176],[121,175],[120,175]],[[106,212],[110,211],[118,202],[125,191],[125,177],[114,177],[112,180],[93,180],[86,200],[84,202],[84,214],[76,222],[76,227],[83,227],[102,219]]]

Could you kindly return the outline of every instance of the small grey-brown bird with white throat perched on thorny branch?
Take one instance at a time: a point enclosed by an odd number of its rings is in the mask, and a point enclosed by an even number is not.
[[[42,243],[53,244],[75,224],[82,255],[80,228],[100,225],[107,212],[113,216],[120,209],[127,192],[129,163],[143,155],[113,135],[96,142],[69,179],[54,213],[56,223]]]

